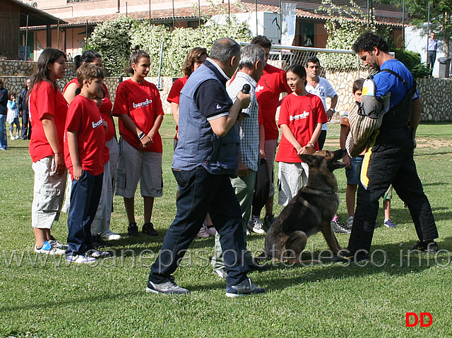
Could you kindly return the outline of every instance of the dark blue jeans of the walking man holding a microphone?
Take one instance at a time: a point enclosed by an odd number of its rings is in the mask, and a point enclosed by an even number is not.
[[[173,169],[173,174],[181,188],[176,201],[177,213],[151,267],[149,280],[156,284],[167,281],[209,213],[220,234],[227,270],[226,283],[235,285],[242,282],[248,272],[244,262],[242,211],[229,176],[209,174],[203,167],[190,171]]]

